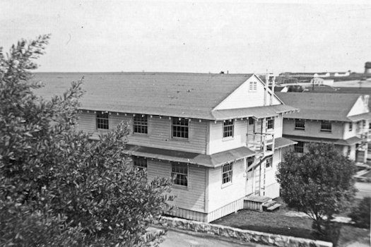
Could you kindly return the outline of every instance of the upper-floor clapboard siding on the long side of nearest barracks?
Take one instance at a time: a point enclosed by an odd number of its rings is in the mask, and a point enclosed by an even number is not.
[[[78,129],[87,132],[98,132],[95,126],[95,114],[81,113],[78,115]],[[179,150],[184,152],[206,153],[206,121],[191,121],[189,122],[189,138],[187,140],[175,140],[171,136],[171,119],[168,117],[148,116],[148,135],[133,134],[133,117],[124,116],[124,114],[110,115],[110,129],[124,121],[129,123],[131,135],[129,136],[129,144],[143,145],[146,147],[163,148],[167,150]]]

